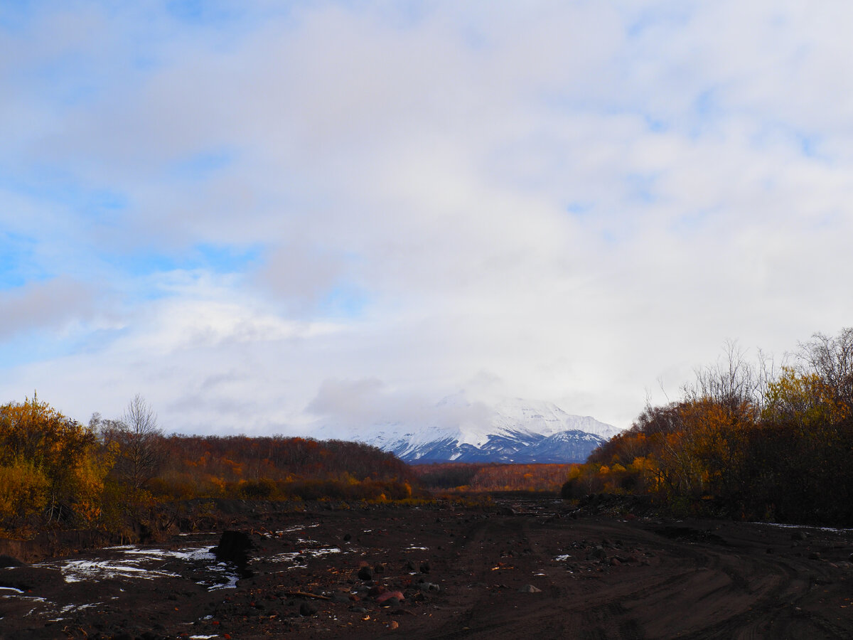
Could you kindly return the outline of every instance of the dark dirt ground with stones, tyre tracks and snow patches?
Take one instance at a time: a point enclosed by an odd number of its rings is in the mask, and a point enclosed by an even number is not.
[[[853,637],[851,530],[578,515],[554,498],[234,528],[247,537],[223,544],[229,562],[212,532],[2,568],[0,637]]]

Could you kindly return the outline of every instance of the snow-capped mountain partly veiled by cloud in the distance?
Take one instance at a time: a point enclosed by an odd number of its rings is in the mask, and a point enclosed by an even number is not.
[[[569,415],[553,403],[471,403],[457,394],[422,420],[374,425],[361,429],[357,439],[409,463],[575,463],[616,433],[611,425]]]

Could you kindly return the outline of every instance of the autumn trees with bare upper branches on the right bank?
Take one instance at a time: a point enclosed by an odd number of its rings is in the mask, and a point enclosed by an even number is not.
[[[853,328],[813,335],[778,371],[728,345],[562,488],[597,492],[647,495],[676,515],[853,526]]]

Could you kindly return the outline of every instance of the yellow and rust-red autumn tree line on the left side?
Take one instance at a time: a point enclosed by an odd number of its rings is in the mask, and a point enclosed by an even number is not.
[[[167,436],[141,396],[88,424],[37,394],[0,406],[0,535],[125,532],[199,498],[402,500],[415,482],[397,457],[356,442]]]

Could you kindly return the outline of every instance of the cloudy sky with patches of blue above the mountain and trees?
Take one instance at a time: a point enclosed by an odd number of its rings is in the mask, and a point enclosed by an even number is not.
[[[0,4],[0,402],[630,426],[853,324],[846,0]]]

